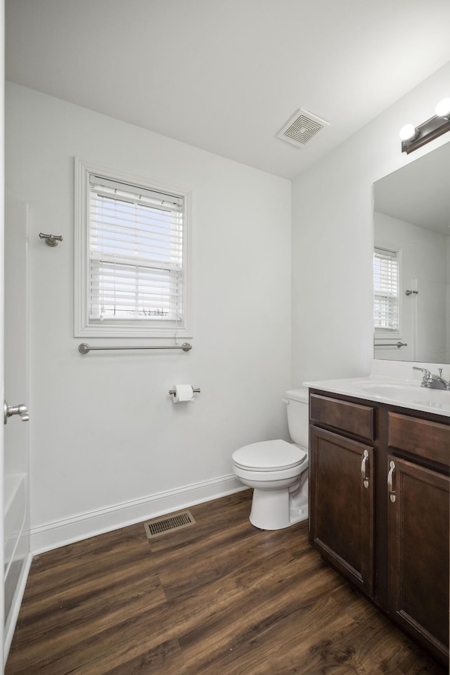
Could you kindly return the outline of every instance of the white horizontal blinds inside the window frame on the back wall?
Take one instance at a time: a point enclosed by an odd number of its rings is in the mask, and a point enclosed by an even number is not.
[[[184,198],[89,176],[90,321],[183,320]]]

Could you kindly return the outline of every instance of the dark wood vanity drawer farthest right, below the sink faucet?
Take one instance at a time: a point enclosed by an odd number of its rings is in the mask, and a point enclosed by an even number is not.
[[[406,450],[439,464],[450,462],[450,424],[388,413],[390,448]]]

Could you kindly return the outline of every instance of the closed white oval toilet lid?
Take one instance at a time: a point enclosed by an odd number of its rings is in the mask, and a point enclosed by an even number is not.
[[[307,453],[297,445],[281,439],[245,445],[233,452],[233,462],[243,469],[270,471],[299,466]]]

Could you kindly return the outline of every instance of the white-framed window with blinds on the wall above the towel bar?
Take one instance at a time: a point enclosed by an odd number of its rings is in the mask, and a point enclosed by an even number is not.
[[[76,160],[75,335],[189,336],[189,193]]]

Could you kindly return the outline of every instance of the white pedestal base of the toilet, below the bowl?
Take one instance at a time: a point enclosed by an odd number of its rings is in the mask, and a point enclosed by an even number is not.
[[[253,489],[250,522],[259,529],[283,529],[307,520],[308,499],[291,499],[288,488]]]

